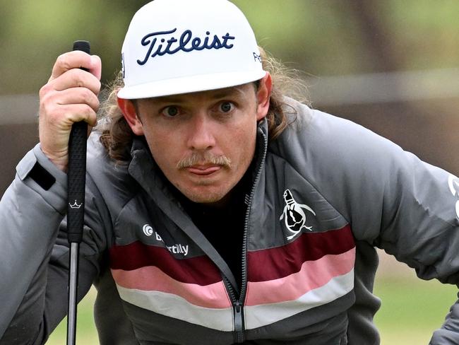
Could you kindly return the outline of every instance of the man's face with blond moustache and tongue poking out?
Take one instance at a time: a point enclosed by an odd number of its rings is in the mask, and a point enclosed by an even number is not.
[[[179,191],[215,204],[237,185],[254,157],[257,121],[266,116],[266,85],[186,93],[137,101],[136,134]],[[268,95],[269,99],[269,95]]]

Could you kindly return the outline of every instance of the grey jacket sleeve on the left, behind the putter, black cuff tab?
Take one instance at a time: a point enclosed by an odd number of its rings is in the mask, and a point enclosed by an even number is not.
[[[55,178],[47,190],[30,177],[36,164]],[[38,145],[16,171],[0,201],[0,344],[44,344],[67,311],[66,174]],[[102,223],[94,200],[87,186],[78,301],[100,270],[106,242],[93,230]]]

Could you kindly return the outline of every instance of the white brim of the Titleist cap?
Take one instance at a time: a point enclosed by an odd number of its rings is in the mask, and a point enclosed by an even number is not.
[[[124,99],[152,98],[181,93],[229,88],[257,81],[266,76],[266,71],[225,72],[198,76],[186,76],[162,81],[153,81],[136,86],[124,86],[118,97]]]

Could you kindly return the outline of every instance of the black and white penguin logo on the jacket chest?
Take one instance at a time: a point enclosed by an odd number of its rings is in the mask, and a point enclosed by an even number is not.
[[[292,240],[292,238],[302,232],[303,228],[311,231],[312,226],[306,226],[305,214],[305,211],[309,211],[311,214],[316,216],[316,213],[311,209],[311,207],[304,204],[298,204],[297,201],[293,199],[290,189],[285,189],[284,201],[284,211],[282,211],[282,216],[280,216],[279,220],[282,221],[282,219],[284,219],[285,227],[290,231],[290,233],[292,233],[292,235],[287,236],[287,240]]]

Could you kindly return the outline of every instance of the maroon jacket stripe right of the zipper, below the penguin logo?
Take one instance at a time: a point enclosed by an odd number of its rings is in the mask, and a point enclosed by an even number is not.
[[[298,272],[306,261],[339,255],[355,246],[349,225],[323,233],[302,233],[282,247],[247,253],[249,281],[270,281]]]

